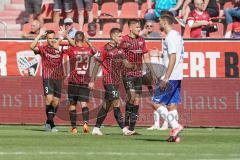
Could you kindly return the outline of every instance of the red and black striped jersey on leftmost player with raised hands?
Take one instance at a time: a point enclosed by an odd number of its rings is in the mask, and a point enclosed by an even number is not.
[[[55,48],[38,46],[42,57],[42,77],[44,79],[63,79],[63,54]]]

